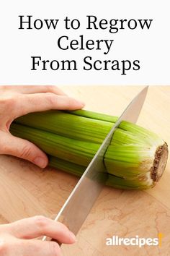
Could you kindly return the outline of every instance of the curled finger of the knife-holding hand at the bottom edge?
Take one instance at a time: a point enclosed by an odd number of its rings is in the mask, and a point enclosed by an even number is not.
[[[19,248],[24,256],[61,256],[61,248],[56,242],[20,240]]]

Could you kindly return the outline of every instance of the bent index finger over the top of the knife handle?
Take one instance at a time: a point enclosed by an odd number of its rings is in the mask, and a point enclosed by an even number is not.
[[[72,244],[75,242],[74,234],[65,225],[44,216],[24,218],[8,225],[11,225],[12,234],[18,238],[32,239],[48,236],[61,243]]]

